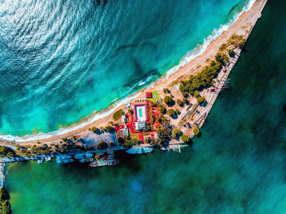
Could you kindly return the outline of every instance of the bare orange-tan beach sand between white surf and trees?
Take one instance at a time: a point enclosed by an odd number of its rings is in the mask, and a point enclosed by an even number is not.
[[[266,1],[265,0],[257,0],[254,5],[251,7],[250,10],[245,11],[242,13],[242,15],[238,18],[238,20],[227,29],[227,31],[224,31],[222,33],[221,36],[219,36],[217,39],[212,40],[210,42],[210,44],[207,46],[206,50],[200,55],[197,56],[196,58],[194,58],[194,60],[190,61],[188,64],[182,66],[179,68],[179,70],[173,74],[171,74],[170,76],[168,76],[168,78],[166,79],[166,76],[162,76],[159,80],[155,81],[154,83],[152,83],[152,86],[147,86],[146,88],[144,88],[143,90],[140,90],[139,92],[137,92],[136,94],[139,94],[138,97],[136,99],[145,99],[145,92],[146,91],[153,91],[153,90],[157,90],[158,94],[160,96],[160,98],[164,98],[167,94],[165,94],[163,92],[164,88],[168,88],[170,90],[170,92],[172,93],[172,95],[174,96],[173,100],[177,100],[177,99],[182,99],[182,94],[180,93],[180,91],[178,91],[174,86],[168,86],[169,84],[171,84],[173,81],[177,80],[179,77],[181,77],[182,75],[190,75],[190,74],[196,74],[197,72],[200,72],[203,68],[203,66],[208,65],[208,62],[206,62],[206,59],[214,59],[215,54],[217,53],[219,47],[223,44],[226,43],[226,41],[229,39],[229,37],[231,35],[233,35],[234,33],[237,33],[238,35],[246,35],[245,30],[242,29],[243,26],[246,25],[246,23],[251,23],[253,26],[255,25],[257,19],[259,17],[261,17],[261,11],[265,5]],[[154,88],[153,88],[154,87]],[[130,96],[132,97],[132,95]],[[194,103],[195,100],[194,97],[190,97],[189,102]],[[130,101],[134,101],[130,100]],[[176,106],[173,106],[173,108]],[[118,108],[116,108],[114,110],[117,111],[119,109],[124,109],[124,106],[121,105]],[[108,116],[98,119],[95,122],[88,124],[82,128],[79,128],[77,130],[68,132],[66,134],[61,134],[61,135],[54,135],[51,136],[49,138],[44,138],[44,139],[39,139],[39,140],[30,140],[30,141],[25,141],[22,142],[20,144],[33,144],[36,143],[37,141],[41,141],[42,143],[46,143],[46,144],[51,144],[51,143],[56,143],[61,141],[61,139],[63,137],[71,137],[73,135],[79,135],[79,136],[83,136],[84,134],[86,134],[88,131],[88,128],[91,128],[92,126],[96,126],[96,127],[105,127],[108,124],[108,121],[113,121],[112,118],[112,114],[109,114]],[[183,114],[182,114],[183,116]],[[179,118],[180,119],[180,118]],[[171,123],[174,124],[175,126],[178,125],[178,123],[180,122],[178,119],[178,121],[172,121]]]

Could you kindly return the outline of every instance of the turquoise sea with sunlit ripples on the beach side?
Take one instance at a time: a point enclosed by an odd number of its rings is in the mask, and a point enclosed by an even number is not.
[[[248,3],[1,1],[0,134],[55,131],[127,97]]]

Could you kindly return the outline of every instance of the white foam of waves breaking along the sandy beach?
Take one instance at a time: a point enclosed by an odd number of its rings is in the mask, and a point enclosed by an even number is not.
[[[221,25],[219,27],[219,29],[214,29],[212,31],[212,33],[206,37],[206,39],[204,39],[204,41],[202,43],[200,43],[196,48],[194,48],[192,51],[190,51],[180,62],[180,64],[178,66],[175,66],[173,68],[171,68],[170,70],[168,70],[166,72],[166,76],[164,76],[164,78],[161,78],[160,80],[164,81],[166,80],[171,74],[173,74],[174,72],[178,71],[179,68],[181,66],[184,66],[185,64],[189,63],[191,60],[193,60],[194,58],[196,58],[196,56],[201,55],[205,50],[206,47],[210,44],[210,42],[214,39],[216,39],[217,37],[219,37],[223,31],[226,31],[231,25],[233,25],[233,23],[235,23],[235,21],[237,21],[237,19],[239,18],[239,16],[244,12],[244,11],[248,11],[249,9],[251,9],[252,5],[255,3],[256,0],[251,0],[249,2],[249,4],[245,5],[244,10],[242,10],[240,13],[238,13],[233,20],[230,20],[229,23],[225,24],[225,25]],[[150,79],[152,78],[152,76],[149,76],[146,81],[148,82]],[[135,87],[135,85],[130,88],[130,90],[128,90],[128,92],[130,92],[133,88]],[[148,86],[146,86],[146,90],[150,89],[150,88],[154,88],[154,82],[149,84]],[[128,94],[128,92],[124,93]],[[59,130],[53,131],[53,132],[48,132],[48,133],[39,133],[39,134],[35,134],[35,135],[25,135],[23,138],[20,138],[19,136],[12,136],[12,135],[0,135],[0,138],[3,138],[5,140],[9,140],[9,141],[15,141],[15,142],[25,142],[25,141],[29,141],[29,140],[40,140],[40,139],[44,139],[44,138],[48,138],[51,136],[55,136],[55,135],[61,135],[61,134],[66,134],[68,132],[77,130],[79,128],[83,128],[84,126],[91,124],[92,122],[104,118],[105,116],[108,116],[109,114],[111,114],[114,109],[116,109],[118,106],[122,105],[125,102],[128,102],[134,98],[136,98],[139,95],[139,93],[133,94],[129,97],[124,98],[123,100],[121,100],[120,102],[118,102],[112,109],[101,113],[101,114],[96,114],[91,116],[90,118],[88,118],[87,121],[81,123],[81,124],[77,124],[77,125],[72,125],[68,128],[60,128]]]

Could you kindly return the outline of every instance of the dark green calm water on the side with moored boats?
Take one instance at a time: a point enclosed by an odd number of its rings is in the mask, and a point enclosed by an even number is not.
[[[4,184],[14,213],[285,213],[284,11],[267,2],[232,88],[182,154],[121,151],[118,166],[102,168],[17,163]]]

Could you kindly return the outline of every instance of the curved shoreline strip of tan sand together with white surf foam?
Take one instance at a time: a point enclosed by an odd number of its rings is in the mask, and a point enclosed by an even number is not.
[[[232,25],[230,27],[228,27],[228,29],[226,31],[222,31],[221,35],[220,36],[217,35],[216,39],[210,40],[209,44],[204,49],[204,51],[202,53],[200,53],[198,56],[196,56],[194,59],[192,59],[190,62],[181,66],[181,63],[184,62],[184,60],[186,60],[186,57],[188,57],[192,53],[192,51],[194,51],[196,49],[194,49],[194,50],[190,51],[188,54],[186,54],[186,56],[184,56],[180,60],[180,64],[178,66],[175,66],[174,68],[167,71],[166,74],[164,74],[159,80],[152,82],[150,85],[146,86],[145,88],[138,90],[134,94],[132,94],[132,95],[128,96],[127,98],[121,100],[115,106],[109,106],[108,109],[104,109],[104,110],[98,112],[97,114],[95,114],[93,116],[90,116],[88,118],[84,118],[84,119],[79,121],[79,122],[81,122],[81,121],[86,120],[88,124],[86,124],[86,122],[82,122],[80,124],[71,125],[68,128],[59,129],[59,130],[49,132],[49,133],[37,134],[36,136],[33,136],[33,135],[27,136],[26,135],[27,137],[30,137],[30,136],[35,137],[34,139],[31,139],[31,138],[25,139],[25,136],[24,136],[24,139],[17,137],[17,136],[12,136],[12,135],[5,135],[5,136],[9,136],[11,138],[11,141],[14,139],[13,141],[21,142],[24,144],[35,143],[38,140],[41,140],[43,143],[47,143],[47,144],[56,143],[56,142],[59,142],[61,140],[61,138],[63,138],[63,137],[70,137],[72,135],[83,136],[84,134],[86,134],[88,132],[89,127],[106,126],[108,124],[108,121],[112,120],[112,113],[119,110],[120,108],[124,108],[122,103],[128,102],[128,101],[135,99],[135,98],[136,99],[145,98],[145,92],[148,89],[152,88],[154,90],[157,90],[159,93],[159,96],[161,98],[163,98],[164,96],[166,96],[166,94],[162,93],[162,89],[164,87],[166,87],[166,85],[170,84],[171,82],[173,82],[174,80],[176,80],[177,78],[179,78],[180,76],[182,76],[184,74],[189,76],[190,74],[196,74],[197,72],[199,72],[200,70],[198,70],[198,66],[200,65],[200,67],[202,68],[203,66],[206,65],[205,61],[207,58],[213,59],[218,48],[221,46],[221,44],[224,43],[229,38],[229,35],[232,35],[233,33],[236,33],[237,31],[240,30],[239,28],[241,26],[243,26],[245,19],[250,20],[251,17],[257,18],[259,16],[259,14],[257,14],[257,9],[259,11],[261,9],[262,5],[265,5],[266,2],[267,1],[257,0],[253,3],[251,9],[246,8],[244,12],[240,13],[240,15],[239,15],[239,17],[237,17],[236,21],[234,23],[232,23]],[[256,19],[256,21],[257,21],[257,19]],[[253,23],[253,26],[254,25],[255,25],[255,23]],[[216,35],[212,35],[212,36],[216,36]],[[172,70],[176,70],[176,68],[178,68],[178,70],[172,73]],[[172,90],[174,90],[173,88],[172,88]],[[178,98],[178,97],[175,96],[174,99],[175,98]],[[98,118],[98,119],[95,119],[94,121],[92,121],[98,115],[100,115],[99,117],[101,117],[101,118]],[[62,131],[64,132],[64,130],[66,130],[66,133],[59,133]],[[0,136],[0,137],[3,138],[5,136]]]

